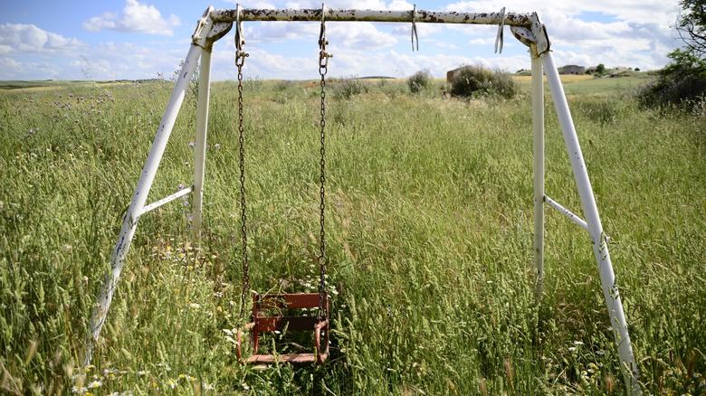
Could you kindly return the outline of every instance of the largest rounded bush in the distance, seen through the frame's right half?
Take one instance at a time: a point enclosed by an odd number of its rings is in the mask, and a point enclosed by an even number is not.
[[[465,66],[453,76],[451,94],[462,97],[498,95],[514,98],[519,91],[518,84],[510,73],[491,71],[482,66]]]

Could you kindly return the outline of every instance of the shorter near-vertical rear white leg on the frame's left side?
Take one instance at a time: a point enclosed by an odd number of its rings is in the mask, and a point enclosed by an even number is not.
[[[196,159],[194,160],[194,212],[192,231],[194,240],[201,240],[201,216],[204,198],[205,147],[208,131],[208,102],[211,93],[211,52],[201,54],[198,79],[198,113],[196,114]]]

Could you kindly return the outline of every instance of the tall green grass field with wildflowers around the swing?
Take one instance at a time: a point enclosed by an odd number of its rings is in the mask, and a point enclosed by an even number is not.
[[[706,123],[639,109],[614,79],[565,87],[640,381],[654,394],[706,394]],[[91,307],[171,88],[0,93],[0,392],[625,392],[590,240],[549,208],[535,306],[529,95],[444,99],[440,87],[411,95],[395,80],[328,85],[329,363],[235,362],[224,330],[244,323],[237,113],[234,83],[219,82],[204,240],[191,240],[189,199],[140,219],[94,365],[81,367]],[[319,87],[247,80],[244,95],[251,284],[314,291]],[[189,95],[149,202],[192,183],[195,108]],[[546,108],[547,193],[581,213]],[[310,348],[291,335],[263,347],[274,344]]]

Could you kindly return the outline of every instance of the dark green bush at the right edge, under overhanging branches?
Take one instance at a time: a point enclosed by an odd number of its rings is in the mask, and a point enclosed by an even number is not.
[[[672,62],[660,71],[657,80],[637,92],[645,108],[684,108],[693,111],[706,96],[706,60],[692,52],[676,50]]]

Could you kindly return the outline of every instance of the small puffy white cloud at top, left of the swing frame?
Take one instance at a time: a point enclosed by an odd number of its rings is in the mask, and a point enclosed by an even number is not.
[[[103,29],[123,33],[148,33],[171,36],[173,27],[181,24],[175,14],[169,15],[168,20],[154,5],[144,5],[138,0],[126,0],[122,14],[104,13],[94,16],[83,23],[83,28],[90,32],[100,32]]]

